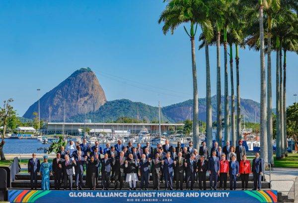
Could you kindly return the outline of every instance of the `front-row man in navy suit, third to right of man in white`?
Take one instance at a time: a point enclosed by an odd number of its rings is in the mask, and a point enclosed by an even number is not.
[[[161,161],[163,174],[166,184],[166,190],[173,190],[173,167],[174,161],[171,158],[171,152],[166,153],[166,157]]]

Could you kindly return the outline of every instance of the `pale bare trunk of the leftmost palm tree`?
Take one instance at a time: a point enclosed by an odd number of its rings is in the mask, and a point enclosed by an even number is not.
[[[193,73],[193,89],[194,89],[194,102],[193,102],[193,140],[194,147],[199,149],[199,101],[198,101],[198,83],[197,83],[197,68],[196,68],[196,55],[195,55],[195,37],[190,38],[191,41],[191,59],[192,59],[192,73]]]

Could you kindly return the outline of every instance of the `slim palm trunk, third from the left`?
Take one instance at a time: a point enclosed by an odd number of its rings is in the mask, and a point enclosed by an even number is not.
[[[222,90],[221,90],[221,33],[217,33],[216,47],[217,47],[217,86],[216,86],[216,100],[217,100],[217,141],[219,146],[222,142]]]

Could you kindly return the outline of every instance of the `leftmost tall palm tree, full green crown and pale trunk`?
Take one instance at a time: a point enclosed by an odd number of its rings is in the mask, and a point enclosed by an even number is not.
[[[192,56],[192,75],[193,75],[193,137],[194,147],[197,149],[199,143],[199,104],[198,104],[198,85],[197,85],[197,69],[195,56],[195,35],[197,31],[197,23],[205,24],[206,27],[211,27],[206,22],[207,9],[201,0],[164,0],[167,1],[165,9],[160,14],[158,23],[164,22],[162,31],[166,34],[174,30],[182,23],[190,23],[190,32],[184,26],[184,30],[191,41],[191,56]]]

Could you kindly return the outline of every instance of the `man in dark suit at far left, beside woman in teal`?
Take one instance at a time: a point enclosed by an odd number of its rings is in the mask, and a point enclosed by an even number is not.
[[[32,158],[28,160],[28,173],[30,173],[31,190],[37,189],[37,173],[40,169],[40,161],[36,158],[36,153],[32,153]]]

